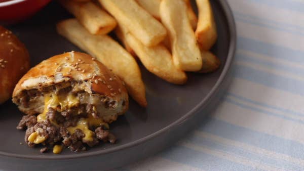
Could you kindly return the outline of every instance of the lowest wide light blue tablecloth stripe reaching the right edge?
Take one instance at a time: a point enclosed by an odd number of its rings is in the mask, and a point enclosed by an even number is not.
[[[198,130],[226,139],[247,143],[266,150],[286,154],[294,158],[304,159],[303,144],[253,131],[215,118],[205,119],[204,124],[202,124]]]

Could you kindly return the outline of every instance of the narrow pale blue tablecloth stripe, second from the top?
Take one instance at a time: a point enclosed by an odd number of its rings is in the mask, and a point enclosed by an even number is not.
[[[271,20],[271,19],[265,19],[263,17],[252,16],[252,15],[249,15],[249,14],[246,14],[246,13],[241,13],[241,12],[238,12],[238,11],[234,11],[233,13],[234,13],[234,15],[237,15],[237,16],[240,16],[240,17],[246,17],[250,20],[260,21],[264,24],[268,24],[268,23],[275,24],[279,28],[284,28],[284,27],[287,26],[287,27],[290,27],[290,28],[298,29],[298,30],[304,29],[304,27],[299,26],[299,25],[288,24],[288,23],[285,23],[285,22],[278,22],[278,21],[274,21],[274,20]]]

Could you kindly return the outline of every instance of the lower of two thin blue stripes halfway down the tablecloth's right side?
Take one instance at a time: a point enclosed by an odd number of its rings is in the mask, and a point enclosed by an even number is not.
[[[232,100],[229,97],[224,98],[224,101],[228,102],[228,103],[231,103],[231,104],[234,104],[236,106],[245,108],[245,109],[249,109],[249,110],[252,110],[252,111],[264,113],[264,114],[267,114],[267,115],[277,116],[277,117],[282,118],[284,120],[289,120],[289,121],[297,122],[297,123],[300,123],[300,124],[304,124],[304,121],[302,121],[302,120],[294,119],[294,118],[284,116],[284,115],[281,115],[281,114],[278,114],[278,113],[274,113],[274,112],[270,112],[270,111],[267,111],[267,110],[264,110],[264,109],[259,109],[259,108],[256,108],[256,107],[245,105],[245,104],[239,103],[235,100]]]

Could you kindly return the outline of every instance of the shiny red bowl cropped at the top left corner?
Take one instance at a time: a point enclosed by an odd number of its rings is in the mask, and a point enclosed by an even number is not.
[[[34,15],[51,0],[11,0],[0,3],[0,23],[12,24]],[[1,0],[0,0],[1,2]]]

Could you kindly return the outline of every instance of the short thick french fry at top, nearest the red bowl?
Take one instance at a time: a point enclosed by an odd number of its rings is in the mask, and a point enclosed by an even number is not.
[[[112,16],[92,2],[79,3],[70,0],[59,2],[92,34],[107,34],[117,25]]]

